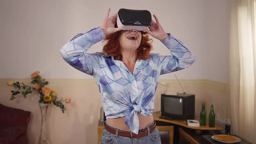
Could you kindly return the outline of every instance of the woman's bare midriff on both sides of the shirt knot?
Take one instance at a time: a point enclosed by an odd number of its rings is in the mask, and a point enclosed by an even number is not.
[[[150,124],[153,121],[152,115],[144,116],[141,113],[138,113],[138,118],[139,118],[139,130],[146,128],[148,124]],[[120,130],[131,131],[131,129],[125,124],[125,117],[108,118],[106,119],[106,122],[108,125],[118,128]]]

